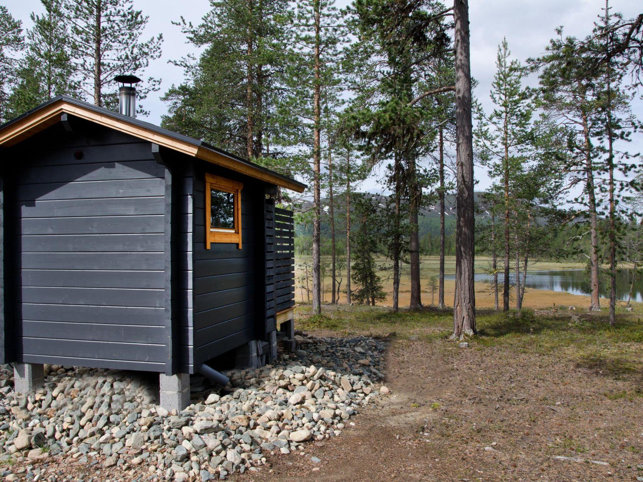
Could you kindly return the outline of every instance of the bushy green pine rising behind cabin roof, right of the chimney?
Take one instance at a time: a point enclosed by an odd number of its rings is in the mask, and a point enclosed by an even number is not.
[[[284,175],[301,172],[284,148],[298,132],[280,109],[293,12],[286,0],[212,0],[198,25],[181,17],[188,42],[203,53],[174,60],[188,79],[163,100],[163,127],[204,139]],[[281,195],[281,193],[280,193]]]

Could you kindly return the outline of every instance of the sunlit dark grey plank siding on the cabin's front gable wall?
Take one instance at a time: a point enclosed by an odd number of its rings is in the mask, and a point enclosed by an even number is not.
[[[165,371],[165,167],[150,143],[71,125],[25,143],[15,174],[16,358]]]

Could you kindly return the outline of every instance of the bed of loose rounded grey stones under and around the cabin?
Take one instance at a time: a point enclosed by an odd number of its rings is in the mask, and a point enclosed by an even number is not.
[[[261,470],[264,452],[287,454],[309,440],[337,436],[359,407],[388,393],[376,385],[384,377],[384,342],[297,341],[298,350],[280,353],[272,366],[226,373],[224,395],[201,397],[180,413],[157,406],[158,388],[129,372],[64,373],[54,366],[44,388],[28,397],[0,382],[0,457],[100,458],[101,467],[117,467],[123,475],[136,469],[149,474],[141,480],[179,482]],[[41,478],[21,470],[20,478]],[[2,476],[19,479],[13,471],[8,465]]]

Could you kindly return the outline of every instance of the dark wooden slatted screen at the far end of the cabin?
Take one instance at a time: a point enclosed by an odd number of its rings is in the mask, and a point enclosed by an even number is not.
[[[294,306],[293,211],[266,199],[266,331],[276,328],[276,314]]]

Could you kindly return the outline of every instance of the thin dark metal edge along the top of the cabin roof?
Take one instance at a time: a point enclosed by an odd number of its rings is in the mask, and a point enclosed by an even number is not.
[[[122,120],[127,123],[130,123],[132,125],[138,125],[139,127],[144,127],[145,129],[152,130],[154,132],[157,132],[158,134],[163,134],[165,136],[169,136],[174,139],[178,139],[180,141],[185,141],[187,143],[190,143],[192,145],[195,145],[197,147],[203,147],[208,150],[211,150],[212,152],[216,152],[217,154],[220,154],[221,156],[228,157],[229,159],[232,159],[233,161],[237,161],[238,163],[242,163],[247,166],[251,166],[255,169],[258,169],[260,171],[266,172],[266,174],[274,175],[275,177],[278,177],[279,179],[284,179],[284,181],[288,181],[289,183],[294,183],[297,184],[298,186],[301,186],[303,189],[307,188],[306,184],[300,183],[299,181],[296,181],[296,179],[293,179],[291,177],[285,176],[283,174],[279,174],[278,172],[275,172],[271,169],[268,169],[264,166],[260,166],[258,164],[255,164],[251,161],[248,161],[247,159],[242,159],[242,157],[235,156],[234,154],[231,154],[230,152],[226,152],[223,149],[220,149],[218,147],[214,147],[213,145],[210,145],[204,141],[200,141],[199,139],[194,139],[188,136],[184,136],[183,134],[179,134],[178,132],[174,132],[173,130],[168,130],[168,129],[163,129],[163,127],[159,127],[158,125],[154,125],[149,122],[141,121],[136,118],[130,117],[130,116],[125,116],[124,114],[120,114],[120,112],[113,112],[109,111],[107,109],[104,109],[103,107],[98,107],[97,105],[94,105],[89,102],[85,102],[84,100],[78,100],[73,97],[69,97],[66,95],[57,95],[55,97],[52,97],[50,100],[41,103],[41,105],[38,105],[37,107],[34,107],[33,109],[30,109],[29,111],[24,112],[24,114],[10,120],[6,121],[4,124],[0,125],[0,130],[5,129],[6,127],[9,127],[10,125],[14,124],[17,121],[20,121],[27,116],[30,116],[34,112],[37,112],[41,110],[44,107],[47,107],[48,105],[51,105],[52,103],[58,102],[59,100],[64,100],[65,102],[73,103],[75,105],[78,105],[78,107],[83,107],[84,109],[89,109],[94,112],[98,112],[100,114],[106,114],[110,117],[113,117],[114,119]]]

